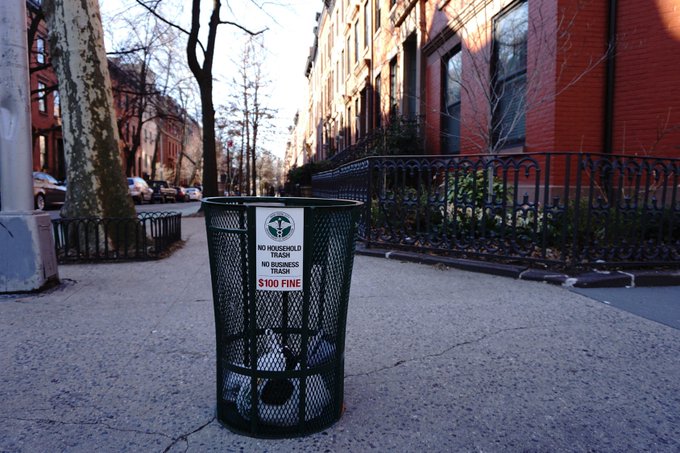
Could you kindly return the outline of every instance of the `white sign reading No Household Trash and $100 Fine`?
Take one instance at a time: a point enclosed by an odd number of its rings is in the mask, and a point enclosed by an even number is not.
[[[304,208],[255,208],[260,291],[302,291]]]

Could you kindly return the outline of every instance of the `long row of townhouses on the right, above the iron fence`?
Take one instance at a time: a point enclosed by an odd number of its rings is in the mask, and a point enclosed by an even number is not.
[[[419,121],[426,154],[680,156],[679,6],[320,2],[289,160],[342,152],[395,112]]]

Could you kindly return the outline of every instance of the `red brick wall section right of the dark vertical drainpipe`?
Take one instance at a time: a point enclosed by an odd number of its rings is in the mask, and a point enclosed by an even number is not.
[[[680,157],[680,6],[619,2],[613,148]]]

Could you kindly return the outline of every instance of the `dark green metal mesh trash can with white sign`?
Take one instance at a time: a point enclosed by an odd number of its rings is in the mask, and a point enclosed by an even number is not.
[[[203,200],[217,340],[217,418],[255,437],[323,430],[342,414],[360,202]]]

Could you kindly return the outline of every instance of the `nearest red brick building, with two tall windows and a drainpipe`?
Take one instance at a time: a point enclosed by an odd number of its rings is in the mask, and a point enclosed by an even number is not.
[[[677,2],[481,3],[449,1],[430,8],[423,50],[428,153],[680,153]],[[508,39],[514,39],[514,49],[507,48]],[[459,72],[447,77],[453,58]],[[503,74],[504,66],[511,74]],[[453,115],[445,105],[447,82],[464,87],[458,105],[451,104],[458,109]],[[515,85],[497,88],[504,82]],[[503,96],[515,87],[518,93],[504,106]],[[517,113],[504,117],[513,107],[519,107]],[[454,124],[445,124],[451,116]],[[516,130],[503,129],[503,119],[515,120]],[[447,148],[452,127],[459,132],[449,141],[457,143]],[[494,127],[501,130],[494,133]]]

